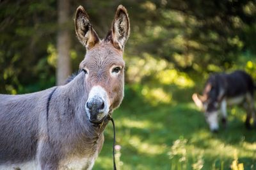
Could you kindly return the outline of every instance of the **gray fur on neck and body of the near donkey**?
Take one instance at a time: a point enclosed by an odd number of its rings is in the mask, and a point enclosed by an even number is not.
[[[103,144],[102,131],[84,113],[84,73],[65,86],[28,95],[0,95],[0,164],[19,164],[39,157],[42,169],[56,169],[69,157],[92,157]]]

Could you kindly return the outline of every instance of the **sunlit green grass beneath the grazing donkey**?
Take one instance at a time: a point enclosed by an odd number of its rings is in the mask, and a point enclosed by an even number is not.
[[[124,102],[113,114],[119,169],[230,169],[232,164],[232,169],[256,169],[256,130],[244,127],[243,109],[229,109],[228,127],[212,134],[191,101],[193,90],[171,89],[167,103],[150,101],[140,88],[125,89]],[[93,169],[113,166],[111,123],[104,134]]]

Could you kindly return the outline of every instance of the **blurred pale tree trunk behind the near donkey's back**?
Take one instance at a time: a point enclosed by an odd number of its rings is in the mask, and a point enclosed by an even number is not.
[[[67,22],[70,22],[69,18],[69,0],[58,0],[58,37],[57,37],[57,85],[61,85],[65,82],[67,77],[71,73],[70,65],[70,31],[68,29]]]

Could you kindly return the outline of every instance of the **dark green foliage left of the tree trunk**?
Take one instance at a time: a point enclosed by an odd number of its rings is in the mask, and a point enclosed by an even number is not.
[[[0,5],[0,92],[25,93],[52,86],[54,69],[45,62],[55,43],[54,1],[3,1]]]

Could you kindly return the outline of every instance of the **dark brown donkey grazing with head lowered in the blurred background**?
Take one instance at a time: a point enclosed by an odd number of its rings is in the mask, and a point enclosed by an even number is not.
[[[243,105],[247,111],[246,127],[250,128],[253,118],[256,125],[254,109],[253,79],[248,73],[237,70],[232,73],[215,73],[207,79],[203,95],[194,93],[192,98],[195,104],[204,111],[205,120],[212,132],[219,129],[218,114],[221,111],[221,120],[224,126],[227,124],[227,106]]]

